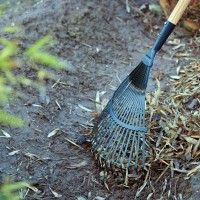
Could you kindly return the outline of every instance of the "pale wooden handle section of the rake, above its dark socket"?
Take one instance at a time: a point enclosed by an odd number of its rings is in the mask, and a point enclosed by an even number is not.
[[[171,15],[169,16],[168,21],[176,25],[190,2],[191,0],[179,0]]]

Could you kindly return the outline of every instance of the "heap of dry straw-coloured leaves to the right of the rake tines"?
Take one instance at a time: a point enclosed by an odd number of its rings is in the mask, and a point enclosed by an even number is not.
[[[200,159],[200,61],[177,69],[169,91],[147,96],[150,160],[187,172]]]

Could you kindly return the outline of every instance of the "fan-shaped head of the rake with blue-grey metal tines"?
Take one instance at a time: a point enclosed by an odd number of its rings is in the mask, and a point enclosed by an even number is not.
[[[120,168],[145,163],[145,90],[150,67],[141,62],[121,83],[95,124],[93,150]]]

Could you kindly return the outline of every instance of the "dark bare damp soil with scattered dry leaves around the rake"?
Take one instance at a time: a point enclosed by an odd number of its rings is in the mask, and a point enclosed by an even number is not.
[[[68,60],[72,69],[54,72],[55,78],[46,82],[45,98],[36,89],[22,87],[20,90],[26,96],[7,106],[9,112],[25,119],[28,126],[1,126],[11,138],[0,140],[0,181],[11,177],[30,182],[38,191],[28,191],[26,199],[189,199],[193,188],[182,174],[177,173],[171,180],[170,173],[166,173],[155,182],[161,174],[159,166],[151,172],[151,184],[137,198],[144,178],[130,187],[116,181],[106,185],[88,142],[97,91],[106,91],[103,98],[108,99],[136,67],[164,22],[161,13],[143,15],[139,6],[149,1],[129,2],[130,13],[123,0],[10,2],[13,6],[1,17],[0,27],[11,23],[22,27],[19,33],[22,50],[43,36],[52,35],[57,43],[50,47],[51,53]],[[10,37],[3,33],[1,36]],[[186,43],[188,40],[184,39]],[[157,76],[162,79],[163,90],[169,87],[168,77],[179,62],[173,53],[167,44],[157,56],[148,91],[155,88]],[[17,73],[34,78],[32,66],[18,69]],[[59,129],[58,133],[48,138],[55,129]],[[8,155],[15,150],[19,152]],[[148,197],[150,193],[152,196]]]

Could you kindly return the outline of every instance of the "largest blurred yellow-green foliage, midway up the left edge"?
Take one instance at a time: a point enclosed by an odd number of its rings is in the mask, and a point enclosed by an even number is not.
[[[24,58],[36,64],[42,64],[55,69],[66,68],[68,66],[66,61],[43,50],[45,45],[52,42],[52,37],[43,37],[25,50]],[[9,41],[4,38],[0,39],[0,44],[3,46],[3,49],[0,51],[0,124],[20,127],[23,126],[25,122],[19,117],[5,112],[1,107],[11,99],[13,94],[18,93],[18,91],[16,91],[17,85],[22,84],[38,88],[40,84],[25,76],[14,74],[14,70],[18,65],[17,44],[14,41]],[[37,72],[38,80],[42,82],[46,77],[51,77],[50,73],[44,69],[39,69]]]

